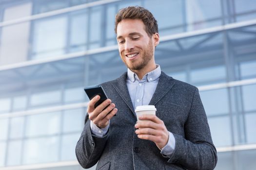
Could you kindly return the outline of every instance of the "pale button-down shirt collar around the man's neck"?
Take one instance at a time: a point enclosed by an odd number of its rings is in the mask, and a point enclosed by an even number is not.
[[[144,75],[142,80],[146,79],[148,82],[153,82],[158,79],[161,75],[161,68],[158,64],[156,66],[157,68]],[[137,74],[131,71],[129,68],[127,70],[127,78],[132,82],[135,82],[135,80],[139,81]]]

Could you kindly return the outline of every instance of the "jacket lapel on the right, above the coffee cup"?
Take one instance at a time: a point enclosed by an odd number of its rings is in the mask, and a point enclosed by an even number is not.
[[[173,80],[172,77],[169,77],[164,72],[161,72],[156,91],[153,94],[153,97],[149,102],[149,105],[156,105],[157,102],[159,102],[167,94],[167,92],[174,85],[174,81],[172,80]]]

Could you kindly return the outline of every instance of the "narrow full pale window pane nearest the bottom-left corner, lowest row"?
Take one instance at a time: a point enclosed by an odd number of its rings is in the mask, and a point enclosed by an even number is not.
[[[8,142],[7,165],[15,166],[21,163],[22,140],[11,140]]]

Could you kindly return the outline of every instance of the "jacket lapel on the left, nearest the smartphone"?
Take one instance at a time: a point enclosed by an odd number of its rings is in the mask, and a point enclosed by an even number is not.
[[[127,72],[123,73],[116,81],[113,82],[114,88],[117,90],[118,94],[121,96],[123,101],[128,105],[131,111],[135,114],[133,103],[126,85]]]

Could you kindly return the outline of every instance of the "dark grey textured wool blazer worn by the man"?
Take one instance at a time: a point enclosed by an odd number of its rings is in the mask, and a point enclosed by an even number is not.
[[[206,114],[195,86],[161,73],[150,105],[175,136],[171,157],[165,157],[154,142],[135,134],[136,116],[126,85],[127,72],[114,81],[103,83],[107,96],[118,108],[103,137],[91,134],[90,119],[85,118],[76,155],[83,168],[97,162],[97,170],[213,170],[217,152]]]

